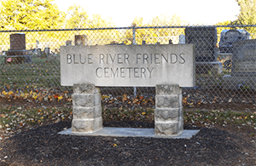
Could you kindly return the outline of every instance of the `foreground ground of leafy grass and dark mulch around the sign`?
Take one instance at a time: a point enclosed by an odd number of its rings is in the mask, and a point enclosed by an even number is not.
[[[246,103],[184,106],[190,140],[69,136],[72,102],[0,98],[0,165],[256,165],[256,111]],[[154,128],[152,106],[102,106],[104,127]]]

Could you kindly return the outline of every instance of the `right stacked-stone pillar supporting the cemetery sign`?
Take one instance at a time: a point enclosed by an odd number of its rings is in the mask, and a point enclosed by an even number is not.
[[[183,133],[183,96],[178,84],[156,85],[154,110],[155,135]]]

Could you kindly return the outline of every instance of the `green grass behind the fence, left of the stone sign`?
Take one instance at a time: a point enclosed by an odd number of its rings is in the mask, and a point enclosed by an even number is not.
[[[0,58],[3,59],[3,58]],[[37,87],[60,88],[61,85],[60,60],[50,60],[32,56],[31,64],[1,63],[0,86],[8,84],[10,87],[33,85]]]

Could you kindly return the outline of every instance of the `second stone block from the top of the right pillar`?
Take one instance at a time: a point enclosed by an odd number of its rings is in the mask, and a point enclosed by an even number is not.
[[[155,95],[155,106],[159,108],[179,108],[182,102],[180,102],[180,95]]]

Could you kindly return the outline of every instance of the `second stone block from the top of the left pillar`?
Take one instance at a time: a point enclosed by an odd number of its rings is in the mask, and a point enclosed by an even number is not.
[[[95,94],[73,94],[73,106],[95,106]]]

